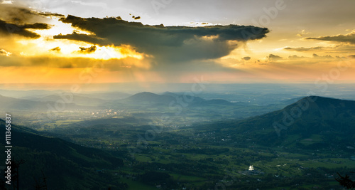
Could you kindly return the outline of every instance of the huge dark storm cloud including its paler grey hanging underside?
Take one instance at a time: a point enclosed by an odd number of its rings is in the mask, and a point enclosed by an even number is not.
[[[94,35],[72,33],[54,38],[87,41],[101,46],[129,44],[138,52],[151,54],[156,60],[169,62],[213,59],[228,55],[240,43],[261,39],[268,28],[256,26],[148,26],[138,22],[128,22],[116,18],[89,18],[67,16],[60,19],[64,23],[91,31]]]

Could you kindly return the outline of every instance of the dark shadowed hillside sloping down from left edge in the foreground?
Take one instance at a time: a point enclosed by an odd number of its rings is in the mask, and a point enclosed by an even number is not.
[[[4,120],[0,133],[5,134]],[[46,179],[48,189],[123,189],[116,176],[102,169],[123,166],[122,159],[100,149],[82,147],[65,140],[45,137],[26,127],[11,127],[11,157],[20,165],[19,189],[33,189],[35,181]],[[5,157],[1,141],[1,157]],[[42,174],[43,173],[43,174]],[[1,184],[1,183],[0,183]]]

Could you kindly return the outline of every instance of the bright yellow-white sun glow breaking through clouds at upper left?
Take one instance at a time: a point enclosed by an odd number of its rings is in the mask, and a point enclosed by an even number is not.
[[[56,35],[66,35],[71,33],[79,33],[92,35],[89,31],[80,30],[73,27],[70,23],[62,23],[58,21],[58,17],[52,17],[49,29],[28,29],[28,31],[40,34],[40,38],[28,39],[24,38],[17,43],[22,47],[18,54],[22,56],[57,56],[65,58],[94,58],[101,60],[136,58],[142,60],[147,55],[138,53],[132,46],[97,46],[92,43],[82,41],[72,41],[67,39],[53,39]],[[95,51],[90,53],[82,53],[80,48],[88,48],[95,46]]]

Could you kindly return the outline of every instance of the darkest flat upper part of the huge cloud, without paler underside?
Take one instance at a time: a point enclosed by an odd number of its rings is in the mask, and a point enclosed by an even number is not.
[[[215,36],[219,35],[219,40],[248,41],[260,39],[266,36],[268,28],[258,28],[255,26],[148,26],[142,23],[128,22],[115,18],[89,18],[82,19],[76,16],[67,16],[60,19],[64,23],[72,23],[72,26],[92,31],[102,38],[116,37],[119,43],[124,41],[141,43],[153,43],[163,46],[179,46],[183,40],[193,36]],[[124,38],[127,37],[127,38]],[[161,39],[163,38],[163,39]],[[143,41],[141,41],[143,40]],[[168,41],[165,41],[168,40]]]

